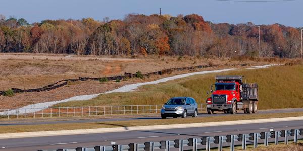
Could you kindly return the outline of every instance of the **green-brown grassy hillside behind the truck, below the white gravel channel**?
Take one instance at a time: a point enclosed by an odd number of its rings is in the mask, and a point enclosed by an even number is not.
[[[158,85],[146,85],[135,92],[105,94],[92,100],[72,101],[56,106],[163,104],[174,96],[191,96],[198,103],[205,103],[208,97],[206,92],[209,85],[215,82],[215,75],[245,75],[247,83],[257,82],[260,109],[303,107],[303,65],[196,75]]]

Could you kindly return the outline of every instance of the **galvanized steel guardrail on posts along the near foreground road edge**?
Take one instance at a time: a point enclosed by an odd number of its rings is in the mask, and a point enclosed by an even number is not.
[[[130,143],[128,145],[112,146],[94,146],[91,148],[78,147],[75,149],[56,149],[56,151],[137,151],[137,150],[165,150],[169,151],[171,148],[183,150],[198,150],[204,149],[209,151],[211,148],[218,148],[219,151],[223,150],[223,147],[230,147],[230,150],[235,150],[235,146],[242,146],[242,150],[246,149],[248,143],[252,144],[254,148],[258,147],[258,144],[268,146],[270,139],[273,139],[275,145],[278,145],[279,137],[284,138],[284,144],[288,144],[289,140],[293,140],[294,143],[298,142],[298,136],[303,135],[303,129],[291,129],[282,131],[270,131],[261,133],[249,133],[227,136],[214,136],[214,137],[202,137],[202,138],[189,138],[186,140],[165,140],[160,142],[145,142],[145,143]],[[291,137],[291,139],[290,139]],[[250,141],[249,141],[250,140]],[[262,142],[259,140],[262,140]],[[252,141],[252,142],[251,142]],[[238,143],[239,145],[237,145]],[[40,151],[40,150],[38,150]],[[52,150],[54,151],[54,150]]]

